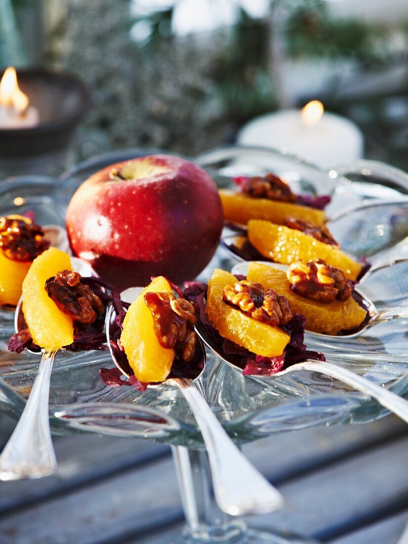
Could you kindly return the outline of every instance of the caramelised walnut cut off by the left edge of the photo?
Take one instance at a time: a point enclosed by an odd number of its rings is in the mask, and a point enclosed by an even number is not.
[[[0,217],[0,249],[13,261],[34,261],[50,247],[40,225],[23,219]]]

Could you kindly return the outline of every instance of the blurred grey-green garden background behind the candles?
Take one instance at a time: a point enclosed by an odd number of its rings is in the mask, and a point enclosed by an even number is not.
[[[92,89],[77,158],[193,154],[317,98],[361,127],[367,157],[408,168],[406,0],[0,0],[0,21],[2,66]]]

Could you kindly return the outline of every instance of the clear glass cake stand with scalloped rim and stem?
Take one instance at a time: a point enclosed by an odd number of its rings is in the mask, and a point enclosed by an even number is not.
[[[104,154],[79,164],[60,178],[24,176],[0,182],[0,214],[32,209],[40,224],[64,226],[67,203],[89,175],[106,165],[156,150],[131,149]],[[403,254],[408,236],[407,176],[386,165],[367,163],[343,166],[330,173],[288,154],[255,147],[226,147],[195,157],[221,187],[235,175],[257,175],[272,170],[289,181],[294,190],[332,194],[330,217],[349,207],[368,205],[334,221],[331,227],[343,248],[372,259]],[[375,168],[374,168],[375,167]],[[368,183],[370,172],[375,183]],[[378,203],[381,200],[382,205]],[[370,208],[373,206],[373,208]],[[375,213],[367,213],[375,208]],[[408,255],[408,246],[407,246]],[[200,275],[205,281],[214,267],[230,270],[231,261],[221,249]],[[408,264],[373,275],[370,295],[378,307],[408,303]],[[23,410],[39,364],[33,354],[7,351],[14,311],[0,308],[0,410],[17,419]],[[381,331],[380,331],[381,329]],[[393,392],[408,395],[408,344],[406,320],[374,327],[376,336],[362,342],[346,339],[324,351],[330,361],[366,376]],[[336,380],[316,372],[299,372],[270,380],[242,376],[208,353],[199,387],[228,434],[238,444],[269,434],[304,429],[319,424],[366,423],[386,410],[373,399],[351,391]],[[58,355],[50,391],[50,421],[55,434],[95,432],[118,437],[149,438],[170,444],[187,526],[184,539],[191,544],[267,544],[306,542],[246,527],[244,520],[223,514],[214,502],[208,458],[194,417],[182,394],[163,385],[140,393],[132,387],[109,387],[98,377],[101,367],[113,367],[107,352]]]

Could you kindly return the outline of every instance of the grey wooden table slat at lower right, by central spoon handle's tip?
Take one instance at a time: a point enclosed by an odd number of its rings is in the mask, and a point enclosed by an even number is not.
[[[408,506],[407,450],[408,437],[399,438],[280,485],[285,508],[254,523],[329,540],[401,511]]]

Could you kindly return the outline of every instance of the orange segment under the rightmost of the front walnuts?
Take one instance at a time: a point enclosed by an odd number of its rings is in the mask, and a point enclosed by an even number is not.
[[[337,335],[343,329],[358,327],[366,317],[366,311],[351,297],[344,302],[335,300],[324,304],[294,293],[289,287],[286,272],[266,264],[250,263],[247,279],[286,296],[292,312],[306,317],[306,329],[310,331]]]

